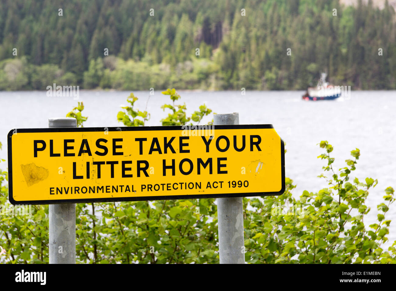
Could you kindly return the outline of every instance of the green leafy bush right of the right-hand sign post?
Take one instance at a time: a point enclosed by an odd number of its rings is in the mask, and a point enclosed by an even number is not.
[[[326,153],[318,158],[327,161],[323,167],[331,177],[320,175],[329,183],[318,193],[304,191],[299,199],[291,195],[294,188],[287,179],[286,191],[281,196],[264,200],[244,198],[244,204],[253,207],[246,211],[245,246],[246,261],[253,263],[396,263],[396,242],[388,248],[381,244],[388,239],[390,220],[385,220],[389,205],[394,202],[394,190],[386,188],[384,200],[378,208],[378,221],[367,226],[363,218],[369,213],[366,205],[369,189],[377,180],[357,178],[349,182],[350,173],[356,169],[360,156],[358,149],[351,151],[353,160],[346,160],[346,167],[333,170],[333,146],[322,141],[320,147]],[[274,206],[297,205],[302,213],[281,213]]]

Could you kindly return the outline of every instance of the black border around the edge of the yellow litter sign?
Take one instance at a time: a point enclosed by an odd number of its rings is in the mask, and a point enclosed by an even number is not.
[[[187,127],[189,129],[190,127]],[[11,129],[7,136],[8,141],[8,199],[13,205],[48,205],[65,203],[92,203],[92,202],[125,202],[125,201],[154,201],[154,200],[179,200],[196,198],[227,198],[227,197],[251,197],[251,196],[279,196],[285,192],[285,144],[281,141],[281,167],[282,189],[278,192],[249,192],[249,193],[223,193],[223,194],[191,194],[191,195],[167,195],[167,196],[141,196],[141,197],[118,197],[118,198],[89,198],[89,199],[66,199],[66,200],[34,200],[15,201],[12,191],[12,135],[17,133],[44,133],[44,132],[85,132],[85,131],[153,131],[153,130],[186,130],[186,126],[122,126],[122,127],[59,127],[59,128],[23,128]],[[198,129],[198,128],[197,128]],[[274,129],[272,124],[240,124],[240,125],[215,125],[215,129]]]

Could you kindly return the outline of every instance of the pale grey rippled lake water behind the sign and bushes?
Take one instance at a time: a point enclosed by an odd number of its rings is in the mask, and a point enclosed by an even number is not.
[[[80,91],[78,101],[84,101],[85,127],[123,126],[117,122],[120,106],[127,105],[129,91]],[[396,91],[352,91],[350,99],[307,102],[303,91],[179,91],[188,113],[206,105],[216,113],[239,112],[240,124],[273,124],[286,143],[286,177],[297,184],[293,193],[303,190],[317,192],[328,185],[316,176],[323,173],[324,161],[317,158],[322,152],[317,144],[327,140],[334,146],[335,169],[344,167],[350,150],[360,149],[360,159],[354,176],[378,179],[367,198],[371,213],[368,221],[377,217],[376,205],[383,202],[384,189],[396,187]],[[170,103],[168,96],[155,91],[135,91],[139,100],[135,107],[151,113],[147,126],[158,126],[167,115],[160,106]],[[47,97],[46,91],[0,92],[0,158],[7,157],[7,134],[13,128],[48,127],[48,118],[65,117],[77,100],[73,97]],[[205,118],[206,124],[213,116]],[[0,168],[6,169],[6,163]],[[396,204],[386,219],[392,219],[390,241],[396,240]],[[388,245],[388,244],[387,244]]]

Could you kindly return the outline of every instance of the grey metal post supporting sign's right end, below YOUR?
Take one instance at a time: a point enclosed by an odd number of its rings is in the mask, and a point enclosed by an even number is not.
[[[239,114],[214,114],[213,124],[238,125]],[[244,264],[242,197],[217,198],[220,264]]]

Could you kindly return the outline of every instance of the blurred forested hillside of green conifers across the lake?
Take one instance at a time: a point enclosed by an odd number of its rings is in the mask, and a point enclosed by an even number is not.
[[[395,27],[370,1],[2,0],[0,89],[396,89]]]

